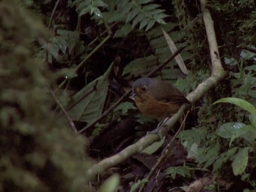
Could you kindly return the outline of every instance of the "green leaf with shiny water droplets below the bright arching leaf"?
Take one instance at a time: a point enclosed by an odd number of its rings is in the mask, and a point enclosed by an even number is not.
[[[216,134],[222,138],[231,138],[234,132],[243,126],[246,126],[246,124],[240,122],[225,123],[216,130]]]

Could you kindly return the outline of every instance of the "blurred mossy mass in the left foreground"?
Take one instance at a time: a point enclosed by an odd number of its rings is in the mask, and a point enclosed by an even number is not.
[[[33,54],[44,27],[12,0],[0,2],[0,26],[0,191],[81,191],[86,140],[56,120],[56,75]]]

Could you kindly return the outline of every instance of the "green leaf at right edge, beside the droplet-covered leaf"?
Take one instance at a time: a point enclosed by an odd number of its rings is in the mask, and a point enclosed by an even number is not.
[[[253,144],[256,138],[255,128],[253,128],[251,125],[245,125],[243,127],[236,129],[234,134],[230,138],[229,146],[231,146],[232,142],[236,138],[244,138],[244,140],[246,140],[250,144]]]

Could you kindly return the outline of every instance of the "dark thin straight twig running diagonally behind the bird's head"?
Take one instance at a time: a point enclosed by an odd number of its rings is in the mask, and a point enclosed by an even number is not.
[[[159,66],[157,66],[156,68],[154,68],[147,76],[152,76],[153,74],[155,74],[156,72],[158,72],[159,70],[161,70],[166,64],[168,64],[168,62],[170,62],[170,60],[172,60],[175,56],[177,56],[183,49],[185,48],[185,46],[179,48],[178,50],[176,50],[172,56],[170,56],[170,58],[166,59],[162,64],[160,64]],[[122,102],[122,100],[124,98],[126,98],[126,96],[128,96],[130,93],[132,92],[132,89],[129,89],[120,99],[118,99],[110,108],[108,108],[108,110],[106,110],[101,116],[99,116],[96,120],[94,120],[93,122],[91,122],[90,124],[88,124],[85,128],[81,129],[80,131],[78,131],[78,133],[83,133],[86,129],[94,126],[97,122],[99,122],[102,118],[106,117],[112,110],[114,110],[114,108],[116,108],[120,102]]]

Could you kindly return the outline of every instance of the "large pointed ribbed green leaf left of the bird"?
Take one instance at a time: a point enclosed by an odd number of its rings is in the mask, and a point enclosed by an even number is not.
[[[74,106],[68,111],[72,120],[91,122],[102,113],[104,101],[108,91],[108,75],[112,69],[111,64],[104,75],[96,78],[77,92],[70,101],[67,108]],[[97,82],[97,84],[96,84]],[[91,92],[96,85],[96,90]],[[86,96],[87,95],[87,96]]]

